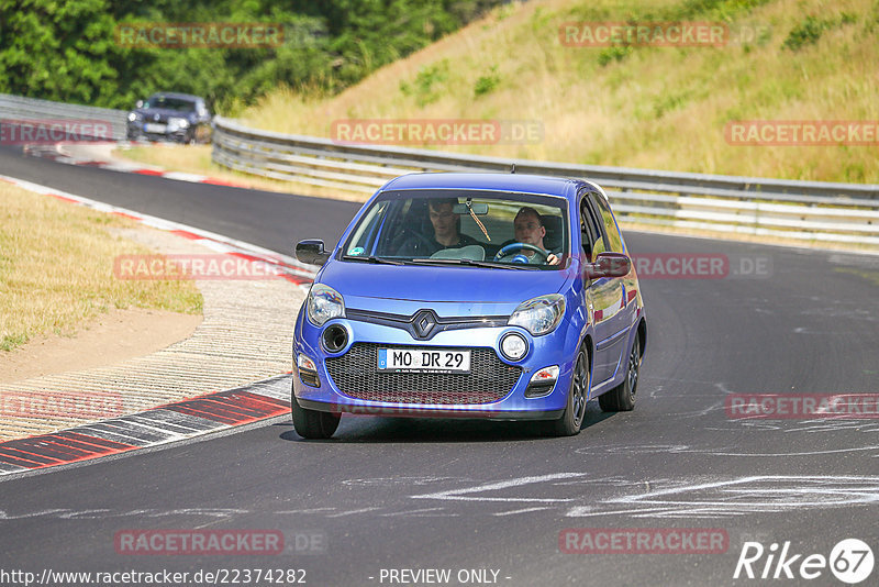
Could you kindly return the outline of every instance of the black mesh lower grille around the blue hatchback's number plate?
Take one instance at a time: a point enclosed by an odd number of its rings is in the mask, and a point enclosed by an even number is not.
[[[378,350],[388,345],[357,343],[347,353],[326,359],[326,370],[346,396],[397,403],[492,403],[509,394],[521,367],[498,358],[491,348],[472,348],[470,373],[386,373],[378,369]],[[426,348],[393,345],[394,348]]]

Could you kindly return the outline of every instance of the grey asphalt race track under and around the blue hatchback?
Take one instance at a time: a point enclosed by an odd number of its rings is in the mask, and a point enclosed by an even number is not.
[[[0,173],[283,253],[302,237],[334,242],[356,210],[11,149],[0,149]],[[802,560],[828,557],[843,539],[879,555],[879,420],[739,420],[724,410],[728,394],[879,391],[879,257],[626,237],[636,255],[725,254],[738,273],[761,267],[723,279],[642,276],[648,346],[634,412],[607,416],[590,402],[568,439],[526,423],[346,417],[333,441],[307,442],[278,419],[5,480],[0,571],[174,569],[190,573],[187,585],[210,584],[192,582],[199,569],[237,569],[243,582],[259,568],[302,569],[316,586],[399,584],[391,569],[429,568],[450,571],[439,585],[799,585]],[[570,528],[717,529],[728,543],[715,554],[563,553]],[[115,549],[119,532],[149,529],[279,530],[287,546],[270,556]],[[758,576],[770,545],[789,541],[788,558],[802,555],[789,567],[795,578],[734,580],[746,541],[766,549]],[[468,573],[478,569],[488,572]],[[817,571],[809,585],[844,585]],[[13,583],[0,574],[0,584]]]

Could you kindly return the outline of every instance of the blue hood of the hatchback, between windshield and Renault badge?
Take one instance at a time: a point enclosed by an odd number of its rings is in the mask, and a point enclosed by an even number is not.
[[[318,281],[334,288],[346,300],[518,304],[559,291],[569,273],[331,261]]]

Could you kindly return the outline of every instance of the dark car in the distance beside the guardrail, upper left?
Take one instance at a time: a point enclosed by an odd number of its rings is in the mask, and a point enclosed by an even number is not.
[[[129,112],[130,141],[173,141],[194,144],[209,143],[212,134],[211,112],[203,98],[188,93],[160,92]]]

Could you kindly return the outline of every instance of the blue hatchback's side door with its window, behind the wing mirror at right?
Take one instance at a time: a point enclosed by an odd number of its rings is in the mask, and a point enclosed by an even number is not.
[[[599,253],[622,248],[616,224],[611,217],[610,226],[597,203],[600,195],[586,191],[580,204],[581,228],[589,230],[592,245],[587,253],[594,261]],[[604,202],[607,203],[607,202]],[[609,234],[610,233],[610,234]],[[615,236],[615,237],[614,237]],[[615,251],[622,252],[622,251]],[[596,356],[592,358],[592,385],[598,386],[616,373],[623,347],[625,346],[628,326],[625,319],[625,300],[623,279],[619,277],[600,277],[587,283],[587,303],[592,315],[596,332]]]

